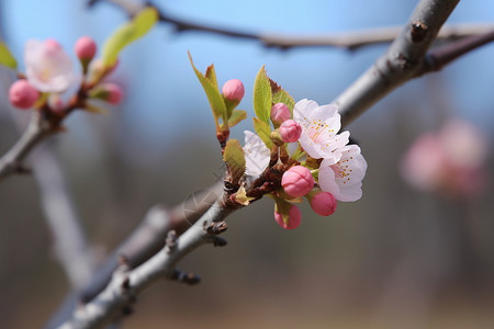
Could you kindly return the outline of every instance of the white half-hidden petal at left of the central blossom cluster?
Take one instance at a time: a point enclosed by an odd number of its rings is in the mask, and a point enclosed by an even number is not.
[[[245,173],[248,175],[259,175],[269,164],[270,151],[259,136],[252,132],[245,131]]]

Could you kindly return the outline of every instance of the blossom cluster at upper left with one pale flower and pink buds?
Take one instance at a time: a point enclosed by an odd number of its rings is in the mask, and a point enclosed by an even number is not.
[[[23,110],[45,106],[63,115],[70,104],[63,101],[61,94],[76,88],[83,90],[87,98],[117,104],[122,99],[121,88],[111,82],[100,83],[102,76],[97,71],[101,71],[101,64],[92,61],[97,53],[94,41],[88,36],[80,37],[74,50],[80,60],[82,73],[75,68],[70,56],[57,41],[27,41],[24,50],[25,75],[20,73],[21,79],[9,89],[11,104]],[[88,71],[90,76],[98,76],[89,83],[85,77]]]

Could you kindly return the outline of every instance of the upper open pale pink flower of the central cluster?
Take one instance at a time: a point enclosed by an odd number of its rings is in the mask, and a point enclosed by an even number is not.
[[[299,101],[293,109],[293,118],[302,126],[299,143],[315,159],[337,161],[341,152],[338,150],[348,144],[350,133],[343,132],[338,109],[333,105],[317,105],[310,100]]]

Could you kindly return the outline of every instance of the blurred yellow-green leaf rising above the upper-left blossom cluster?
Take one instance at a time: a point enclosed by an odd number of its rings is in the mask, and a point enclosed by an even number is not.
[[[132,42],[143,37],[158,21],[158,11],[148,7],[137,13],[132,21],[120,26],[104,43],[103,66],[112,67],[119,53]]]

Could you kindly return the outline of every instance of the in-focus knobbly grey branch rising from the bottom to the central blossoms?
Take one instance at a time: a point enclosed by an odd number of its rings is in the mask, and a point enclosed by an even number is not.
[[[226,224],[222,220],[234,211],[235,208],[225,205],[221,196],[198,223],[179,238],[175,231],[170,231],[166,246],[138,268],[130,271],[123,258],[123,266],[114,272],[105,290],[90,303],[80,306],[74,317],[59,328],[103,328],[122,314],[132,311],[135,296],[160,279],[179,280],[189,284],[199,282],[195,275],[177,270],[176,264],[206,242],[216,245],[216,235],[226,229]]]

